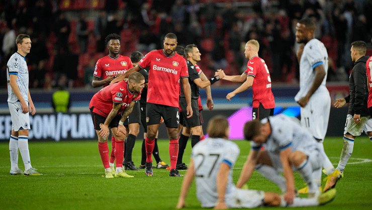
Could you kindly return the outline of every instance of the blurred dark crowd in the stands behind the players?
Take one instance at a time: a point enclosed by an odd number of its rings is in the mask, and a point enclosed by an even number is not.
[[[246,69],[245,42],[258,40],[259,56],[273,82],[296,82],[296,23],[311,17],[315,36],[328,50],[328,80],[348,78],[350,43],[372,37],[372,0],[11,0],[0,1],[0,85],[20,33],[31,36],[27,63],[30,87],[90,86],[99,58],[108,54],[104,39],[121,36],[121,54],[162,48],[172,32],[178,45],[196,44],[207,77],[216,69],[238,75]],[[198,63],[199,64],[199,63]],[[345,76],[346,75],[346,76]],[[226,81],[221,81],[226,82]]]

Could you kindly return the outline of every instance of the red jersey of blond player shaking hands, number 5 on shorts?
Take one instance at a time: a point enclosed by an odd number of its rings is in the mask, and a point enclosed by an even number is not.
[[[253,76],[253,108],[258,108],[262,103],[263,108],[275,108],[274,95],[271,92],[271,78],[267,65],[262,58],[254,56],[247,63],[247,76]]]

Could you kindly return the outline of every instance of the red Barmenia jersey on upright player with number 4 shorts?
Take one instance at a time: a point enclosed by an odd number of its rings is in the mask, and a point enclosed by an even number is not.
[[[138,66],[150,67],[147,102],[178,107],[179,78],[189,77],[185,59],[177,53],[168,57],[163,50],[156,50],[147,53]]]

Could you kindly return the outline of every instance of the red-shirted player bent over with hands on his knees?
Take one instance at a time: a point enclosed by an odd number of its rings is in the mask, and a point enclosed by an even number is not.
[[[105,167],[106,178],[133,177],[125,173],[123,168],[124,138],[126,129],[124,121],[132,112],[134,104],[141,98],[141,90],[145,78],[138,72],[129,75],[128,81],[121,81],[97,92],[89,103],[93,124],[98,135],[98,148]],[[112,107],[112,108],[111,108]],[[123,115],[120,116],[120,113]],[[109,148],[107,145],[109,127],[115,136],[116,173],[109,164]]]

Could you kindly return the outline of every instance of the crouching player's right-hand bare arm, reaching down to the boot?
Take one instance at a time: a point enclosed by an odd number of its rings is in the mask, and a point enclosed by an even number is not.
[[[292,204],[295,198],[295,177],[293,175],[292,164],[290,163],[291,147],[281,151],[281,162],[283,165],[284,177],[287,181],[287,193],[284,199],[287,203]]]

